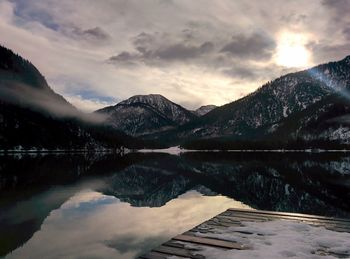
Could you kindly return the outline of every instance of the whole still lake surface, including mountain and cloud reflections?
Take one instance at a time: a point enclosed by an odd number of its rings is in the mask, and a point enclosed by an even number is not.
[[[135,258],[228,208],[350,216],[346,153],[0,156],[0,257]]]

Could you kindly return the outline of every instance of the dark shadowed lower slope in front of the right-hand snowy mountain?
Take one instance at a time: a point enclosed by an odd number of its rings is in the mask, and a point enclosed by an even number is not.
[[[265,130],[268,139],[350,144],[350,99],[332,94]]]

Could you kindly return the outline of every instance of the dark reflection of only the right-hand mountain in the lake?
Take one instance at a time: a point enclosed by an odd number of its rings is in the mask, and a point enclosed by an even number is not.
[[[197,171],[211,178],[209,188],[221,190],[220,193],[257,209],[347,215],[349,189],[341,183],[350,179],[350,175],[324,169],[336,164],[337,160],[327,155],[259,156],[236,154],[211,158],[211,155],[193,155],[190,160],[195,161],[193,166]],[[308,160],[319,166],[305,167],[302,162]]]

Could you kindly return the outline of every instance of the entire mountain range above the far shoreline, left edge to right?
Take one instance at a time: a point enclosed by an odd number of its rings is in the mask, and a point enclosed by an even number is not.
[[[350,56],[281,76],[220,107],[190,111],[150,94],[85,114],[29,61],[0,47],[0,149],[346,147],[349,88]]]

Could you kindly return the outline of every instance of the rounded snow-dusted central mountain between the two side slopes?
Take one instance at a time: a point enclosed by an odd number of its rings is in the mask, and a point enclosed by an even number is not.
[[[159,94],[136,95],[95,112],[116,129],[142,136],[183,125],[197,116]]]

